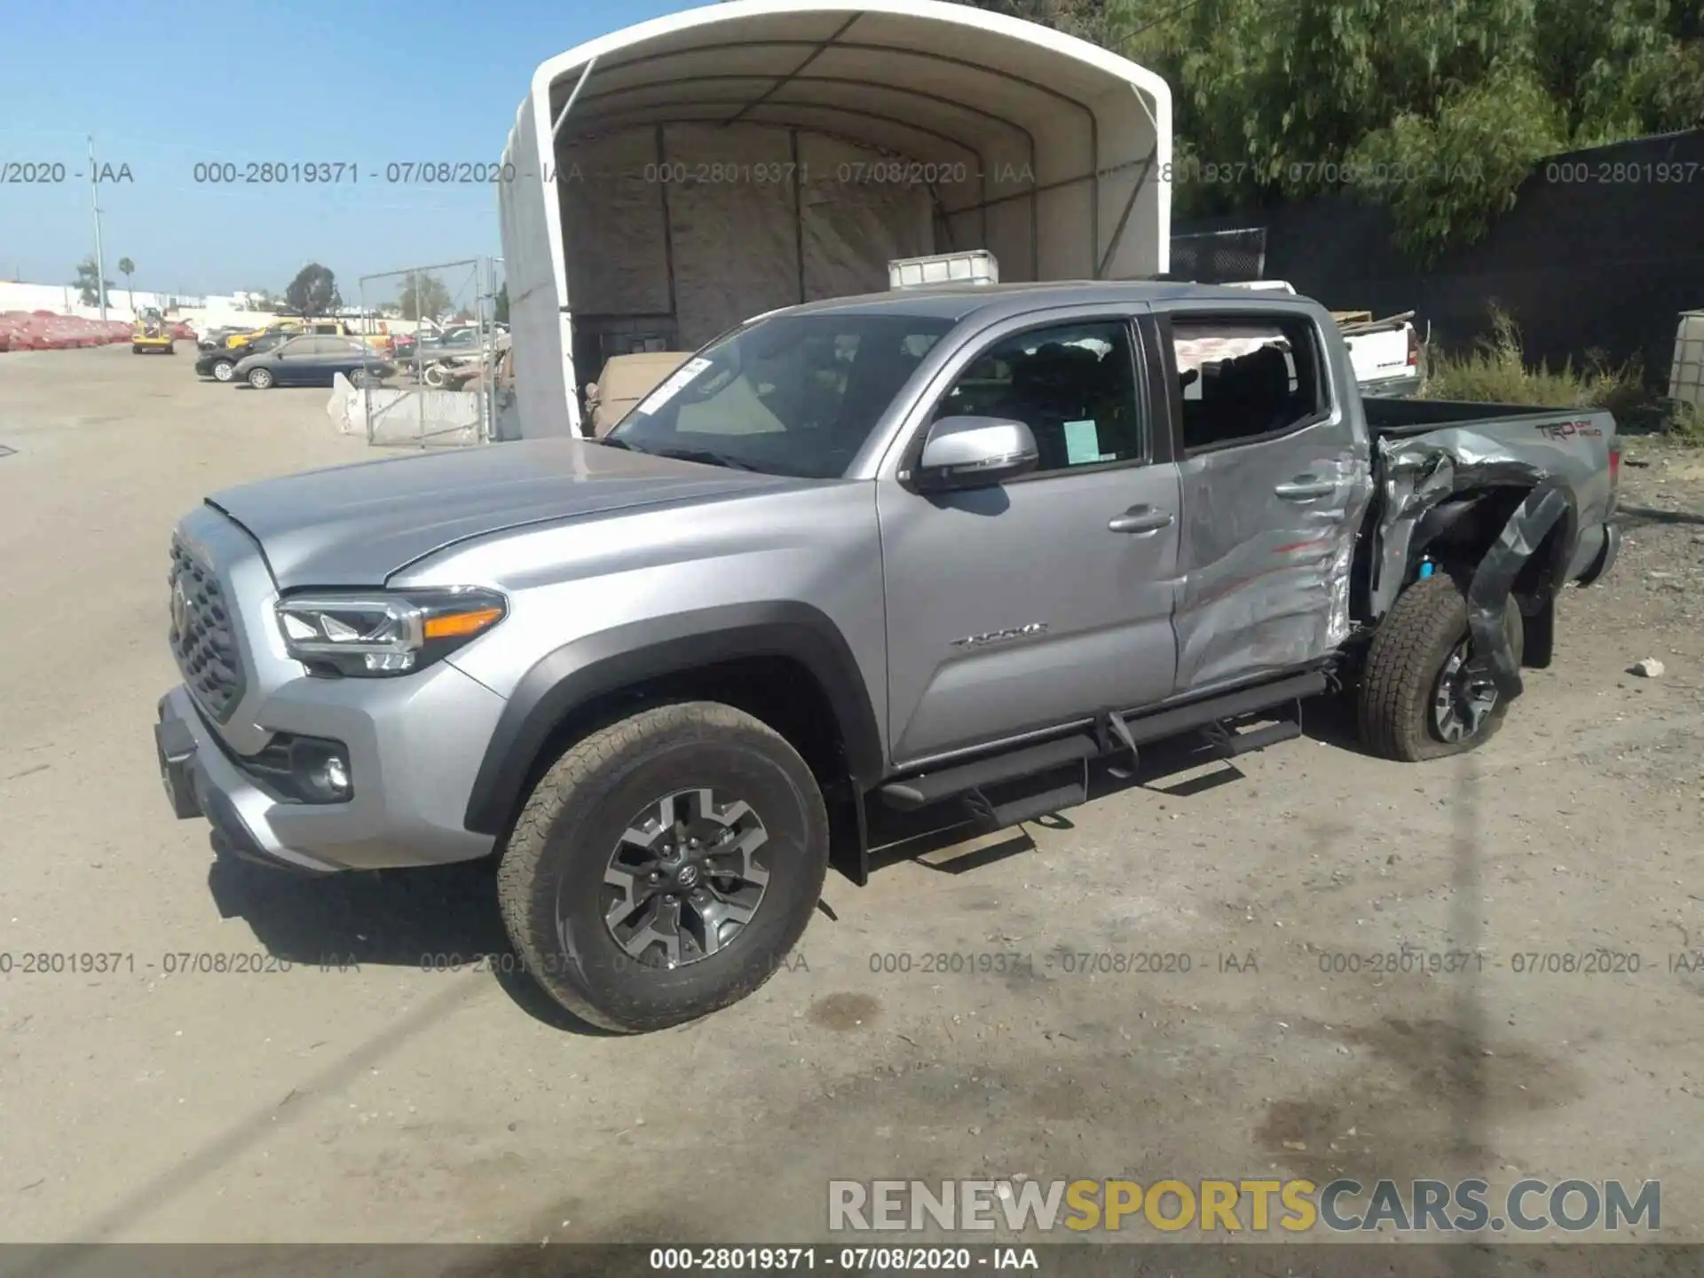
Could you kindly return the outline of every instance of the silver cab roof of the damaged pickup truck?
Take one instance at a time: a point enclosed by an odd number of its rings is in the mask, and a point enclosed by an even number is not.
[[[1225,302],[1241,308],[1259,308],[1275,302],[1293,307],[1307,298],[1293,293],[1263,295],[1229,285],[1191,285],[1162,279],[1050,279],[1021,285],[939,285],[930,288],[901,288],[886,293],[825,298],[787,307],[789,315],[932,315],[963,320],[970,315],[1002,319],[1050,307],[1077,307],[1111,302]]]

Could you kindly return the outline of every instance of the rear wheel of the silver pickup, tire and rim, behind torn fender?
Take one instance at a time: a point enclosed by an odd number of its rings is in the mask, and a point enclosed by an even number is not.
[[[1525,636],[1513,598],[1505,603],[1503,630],[1518,659]],[[1414,763],[1489,741],[1508,702],[1476,670],[1476,656],[1467,598],[1452,578],[1423,578],[1397,595],[1361,671],[1356,717],[1367,750]]]

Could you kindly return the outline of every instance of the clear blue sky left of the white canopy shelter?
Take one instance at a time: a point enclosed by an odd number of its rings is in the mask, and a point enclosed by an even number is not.
[[[389,184],[406,162],[494,162],[545,58],[694,0],[9,0],[0,3],[0,279],[70,283],[94,252],[89,145],[131,182],[101,187],[107,276],[228,293],[329,266],[363,274],[501,254],[496,191]],[[344,162],[351,186],[213,186],[196,164]],[[83,174],[78,181],[72,174]],[[7,174],[0,174],[3,177]],[[375,177],[377,176],[377,177]]]

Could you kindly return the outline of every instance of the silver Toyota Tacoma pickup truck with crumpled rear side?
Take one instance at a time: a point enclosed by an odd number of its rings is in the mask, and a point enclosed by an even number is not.
[[[1363,402],[1298,296],[820,302],[603,440],[210,498],[158,762],[244,859],[492,859],[532,975],[654,1029],[755,990],[830,864],[864,881],[876,804],[1007,826],[1327,690],[1377,755],[1471,750],[1614,561],[1615,460],[1602,412]]]

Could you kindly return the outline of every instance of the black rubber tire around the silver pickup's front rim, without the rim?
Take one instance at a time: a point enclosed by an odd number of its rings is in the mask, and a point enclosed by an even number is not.
[[[757,811],[770,835],[769,884],[726,949],[648,968],[603,922],[603,874],[636,813],[700,786]],[[731,705],[675,702],[591,733],[544,774],[498,864],[498,901],[509,941],[552,999],[603,1029],[644,1033],[763,985],[804,934],[826,871],[828,813],[787,740]]]

